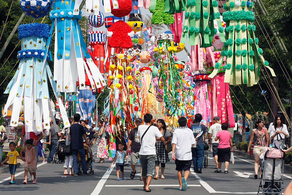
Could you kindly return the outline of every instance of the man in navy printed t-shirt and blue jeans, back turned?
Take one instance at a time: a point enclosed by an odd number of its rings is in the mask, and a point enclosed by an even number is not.
[[[203,155],[204,155],[204,140],[206,139],[207,129],[205,125],[201,124],[202,115],[196,114],[194,124],[191,125],[194,137],[203,132],[197,137],[197,147],[192,148],[192,157],[194,164],[194,172],[202,173],[203,168]]]

